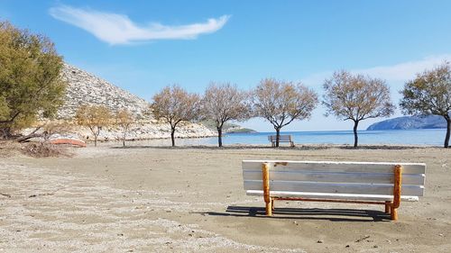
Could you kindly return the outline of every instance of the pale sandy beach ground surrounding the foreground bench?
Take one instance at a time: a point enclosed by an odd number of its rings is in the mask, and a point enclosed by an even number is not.
[[[129,149],[0,158],[0,252],[450,252],[451,149]],[[377,149],[376,149],[377,148]],[[382,206],[276,202],[243,190],[243,159],[425,162],[426,196]]]

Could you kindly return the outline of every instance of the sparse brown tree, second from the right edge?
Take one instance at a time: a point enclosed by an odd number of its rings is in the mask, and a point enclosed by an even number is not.
[[[370,118],[388,117],[395,109],[391,103],[390,89],[384,80],[352,75],[343,70],[334,73],[324,83],[323,104],[327,113],[338,119],[354,122],[354,148],[358,145],[359,122]]]

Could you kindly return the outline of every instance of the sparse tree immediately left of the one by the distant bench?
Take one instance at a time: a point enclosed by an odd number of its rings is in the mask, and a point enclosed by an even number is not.
[[[213,120],[217,130],[217,145],[223,146],[222,133],[225,122],[244,121],[251,114],[248,94],[230,83],[211,83],[202,100],[202,114]]]

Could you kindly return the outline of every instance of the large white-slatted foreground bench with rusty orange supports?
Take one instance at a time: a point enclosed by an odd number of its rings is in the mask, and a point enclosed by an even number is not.
[[[244,190],[261,195],[266,215],[274,201],[297,200],[384,204],[398,219],[400,201],[424,194],[426,164],[332,161],[244,160]]]

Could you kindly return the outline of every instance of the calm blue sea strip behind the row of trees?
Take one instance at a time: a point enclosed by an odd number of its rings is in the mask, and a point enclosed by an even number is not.
[[[269,145],[267,136],[274,132],[229,133],[223,137],[227,144],[264,144]],[[286,131],[295,144],[353,144],[353,131]],[[437,130],[395,130],[395,131],[359,131],[360,144],[408,144],[442,146],[445,140],[445,129]],[[147,140],[149,145],[170,145],[170,140]],[[176,144],[183,145],[216,145],[217,138],[177,139]],[[282,143],[281,145],[287,145]]]

